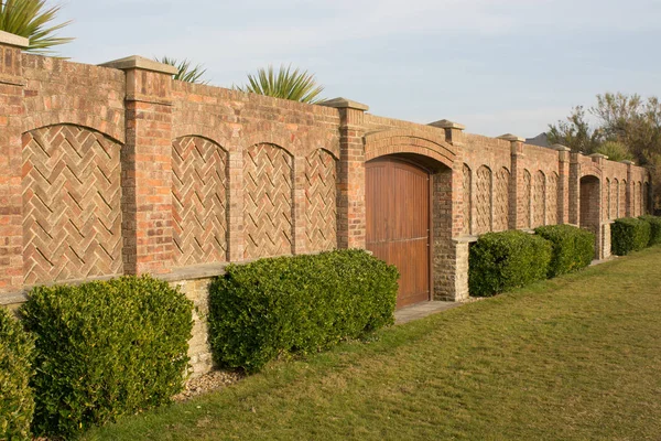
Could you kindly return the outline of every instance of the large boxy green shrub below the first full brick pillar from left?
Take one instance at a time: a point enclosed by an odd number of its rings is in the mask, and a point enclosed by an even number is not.
[[[69,438],[183,387],[192,303],[164,281],[37,287],[21,314],[36,335],[35,434]]]

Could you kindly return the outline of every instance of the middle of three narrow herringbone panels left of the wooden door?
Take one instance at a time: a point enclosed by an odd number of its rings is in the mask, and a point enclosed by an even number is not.
[[[293,160],[273,144],[243,152],[245,258],[292,252]]]

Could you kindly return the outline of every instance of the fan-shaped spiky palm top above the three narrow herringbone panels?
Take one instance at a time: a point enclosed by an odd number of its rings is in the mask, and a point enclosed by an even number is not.
[[[241,92],[267,95],[275,98],[291,99],[294,101],[315,104],[323,101],[319,94],[324,90],[323,86],[316,84],[313,74],[307,71],[301,72],[299,68],[292,71],[290,66],[280,66],[278,73],[273,66],[260,68],[257,74],[248,74],[246,86],[235,86]]]

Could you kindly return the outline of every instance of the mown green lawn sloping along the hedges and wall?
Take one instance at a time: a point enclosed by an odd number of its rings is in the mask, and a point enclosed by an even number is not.
[[[659,440],[661,247],[274,363],[89,440]]]

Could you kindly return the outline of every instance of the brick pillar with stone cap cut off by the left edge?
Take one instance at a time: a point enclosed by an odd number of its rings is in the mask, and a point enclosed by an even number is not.
[[[23,66],[30,42],[0,31],[0,293],[23,284]]]

